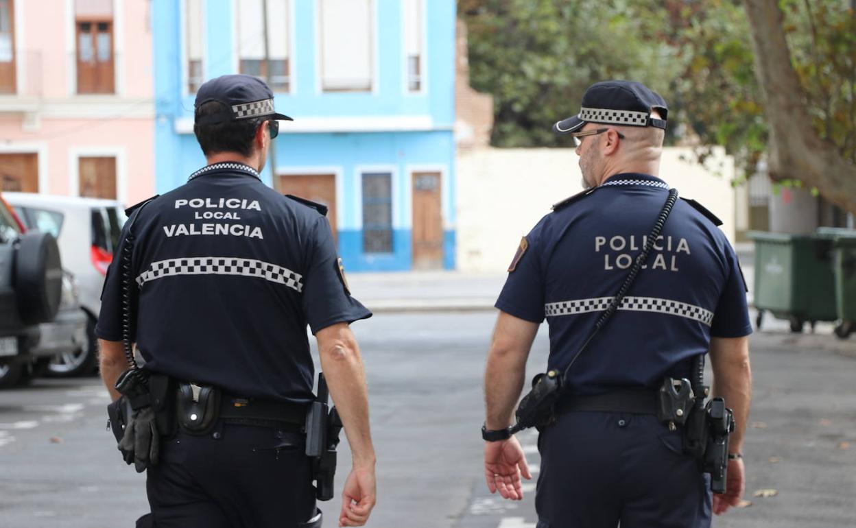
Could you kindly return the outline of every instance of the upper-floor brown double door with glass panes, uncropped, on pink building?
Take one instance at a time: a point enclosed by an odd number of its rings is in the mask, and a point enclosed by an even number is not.
[[[77,92],[113,93],[113,21],[77,20]]]

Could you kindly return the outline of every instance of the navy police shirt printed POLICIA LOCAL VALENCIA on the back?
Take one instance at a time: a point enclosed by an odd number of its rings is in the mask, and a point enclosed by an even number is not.
[[[136,216],[136,218],[134,218]],[[217,163],[131,214],[138,287],[132,338],[146,369],[235,395],[312,400],[306,325],[371,317],[348,292],[330,224],[241,163]],[[96,335],[122,341],[119,264]]]

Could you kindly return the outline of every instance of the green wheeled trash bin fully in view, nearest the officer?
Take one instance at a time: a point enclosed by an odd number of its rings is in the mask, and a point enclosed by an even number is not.
[[[791,331],[804,323],[835,321],[833,238],[818,234],[784,234],[751,231],[755,241],[755,324],[764,312],[788,319]]]

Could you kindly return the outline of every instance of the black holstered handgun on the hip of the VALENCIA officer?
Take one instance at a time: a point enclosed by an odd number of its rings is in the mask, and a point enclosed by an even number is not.
[[[312,474],[319,501],[333,498],[336,476],[336,447],[342,431],[342,418],[336,407],[330,409],[330,391],[324,373],[318,374],[318,395],[306,413],[306,456],[312,458]]]

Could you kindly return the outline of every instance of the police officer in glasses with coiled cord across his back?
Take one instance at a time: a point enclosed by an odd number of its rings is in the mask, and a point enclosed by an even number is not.
[[[520,500],[520,475],[531,478],[508,425],[538,325],[550,325],[548,368],[564,371],[666,202],[669,186],[657,173],[667,114],[657,93],[613,80],[590,86],[580,113],[553,127],[577,141],[586,191],[555,205],[521,241],[496,301],[484,471],[504,498]],[[752,327],[740,266],[716,223],[677,200],[619,309],[568,370],[556,421],[538,437],[538,528],[708,526],[711,509],[740,501]],[[684,428],[661,423],[651,405],[664,377],[689,377],[694,357],[707,352],[712,393],[736,420],[727,490],[712,504],[698,460],[683,453]]]

